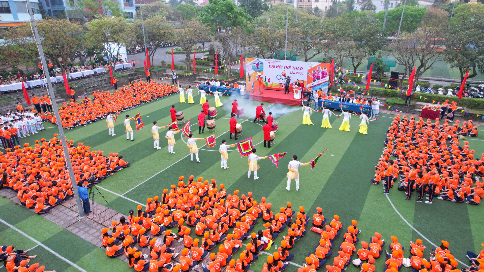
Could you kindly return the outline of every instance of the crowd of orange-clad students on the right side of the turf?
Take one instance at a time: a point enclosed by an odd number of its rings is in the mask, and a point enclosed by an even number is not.
[[[389,194],[393,182],[400,175],[401,189],[406,200],[411,200],[417,190],[417,202],[431,204],[434,197],[452,202],[477,205],[484,196],[484,153],[476,158],[469,142],[459,144],[462,133],[477,136],[477,127],[469,120],[463,126],[459,121],[450,125],[449,120],[426,122],[397,115],[387,131],[385,149],[376,166],[375,178],[383,181],[383,193]],[[395,157],[395,159],[392,159]],[[425,197],[428,196],[428,197]]]

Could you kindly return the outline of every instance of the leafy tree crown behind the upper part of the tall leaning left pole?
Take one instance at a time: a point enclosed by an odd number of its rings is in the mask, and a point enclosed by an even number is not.
[[[73,56],[76,51],[83,50],[82,44],[85,39],[83,28],[75,22],[66,19],[51,18],[38,21],[37,28],[39,35],[42,37],[45,57],[61,68],[63,72],[68,64],[69,57]],[[7,46],[3,48],[7,49],[4,53],[10,51],[14,55],[21,54],[30,58],[38,56],[37,45],[32,37],[30,25],[10,28],[8,31],[4,31],[3,34],[4,42],[2,45]],[[22,46],[16,50],[17,45]],[[62,65],[62,63],[65,65]]]

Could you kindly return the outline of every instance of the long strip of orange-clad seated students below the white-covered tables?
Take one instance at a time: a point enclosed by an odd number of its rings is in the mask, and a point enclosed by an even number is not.
[[[70,102],[63,102],[59,109],[62,120],[62,127],[72,129],[78,125],[101,120],[109,112],[119,112],[127,110],[142,103],[149,103],[153,100],[163,98],[166,95],[177,92],[175,86],[156,82],[133,81],[127,86],[114,91],[94,91],[93,99],[84,96],[80,103],[71,99]],[[53,113],[42,113],[41,118],[57,124]]]

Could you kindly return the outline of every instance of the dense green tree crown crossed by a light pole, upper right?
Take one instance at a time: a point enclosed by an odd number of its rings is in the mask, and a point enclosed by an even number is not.
[[[385,29],[391,31],[391,33],[398,30],[398,25],[400,24],[400,17],[402,16],[403,6],[396,7],[394,9],[388,10],[387,21]],[[413,32],[422,23],[422,18],[425,16],[426,9],[423,7],[416,7],[405,5],[405,11],[403,13],[402,27],[400,32]],[[385,16],[385,11],[380,11],[375,15],[375,18],[381,21],[383,24],[383,17]]]

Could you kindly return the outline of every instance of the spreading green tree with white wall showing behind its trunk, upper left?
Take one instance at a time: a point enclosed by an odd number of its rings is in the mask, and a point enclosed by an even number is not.
[[[111,65],[111,57],[118,56],[120,49],[135,41],[133,26],[121,17],[102,17],[86,24],[87,40],[92,45],[103,45],[103,54]],[[100,46],[99,46],[100,47]],[[114,72],[114,71],[113,71]]]

